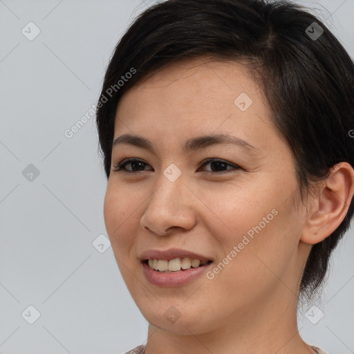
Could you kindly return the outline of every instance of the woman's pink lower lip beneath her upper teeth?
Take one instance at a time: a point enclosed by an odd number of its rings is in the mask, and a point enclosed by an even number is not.
[[[147,263],[142,262],[142,271],[147,278],[147,280],[156,286],[162,287],[176,287],[183,286],[197,277],[201,277],[212,263],[202,265],[197,268],[189,268],[187,270],[180,270],[179,272],[158,272],[153,270],[147,265]]]

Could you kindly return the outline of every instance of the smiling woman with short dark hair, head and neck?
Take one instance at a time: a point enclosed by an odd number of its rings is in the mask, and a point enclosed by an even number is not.
[[[354,194],[354,65],[288,1],[169,0],[111,58],[104,220],[142,315],[129,353],[324,353],[297,305]]]

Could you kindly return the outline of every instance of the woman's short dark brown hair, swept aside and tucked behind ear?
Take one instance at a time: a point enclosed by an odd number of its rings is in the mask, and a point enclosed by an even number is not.
[[[147,8],[129,26],[106,70],[97,129],[107,178],[122,95],[148,73],[205,55],[247,61],[257,72],[272,123],[292,149],[301,198],[310,182],[326,178],[337,162],[354,167],[349,134],[354,128],[354,65],[322,21],[290,1],[167,0]],[[132,69],[134,75],[118,84]],[[337,230],[313,246],[301,294],[310,298],[324,282],[330,254],[348,230],[353,211],[352,200]]]

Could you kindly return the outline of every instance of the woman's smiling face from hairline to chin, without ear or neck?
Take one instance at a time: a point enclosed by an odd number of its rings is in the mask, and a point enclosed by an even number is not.
[[[104,220],[150,324],[209,333],[294,300],[304,261],[295,165],[245,66],[188,59],[164,68],[122,97],[114,140],[124,134],[145,144],[113,146]],[[185,251],[209,263],[167,273],[144,262],[188,267]]]

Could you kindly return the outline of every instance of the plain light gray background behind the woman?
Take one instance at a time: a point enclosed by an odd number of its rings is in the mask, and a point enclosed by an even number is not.
[[[93,247],[106,235],[95,117],[73,138],[64,131],[96,103],[115,44],[153,2],[0,0],[2,354],[125,353],[145,343],[147,321],[111,248]],[[353,56],[354,0],[299,2],[316,6]],[[21,33],[30,21],[41,31],[32,41]],[[22,174],[29,164],[39,170],[32,181]],[[301,336],[328,354],[354,353],[353,254],[351,230],[315,304],[324,317],[299,315]]]

